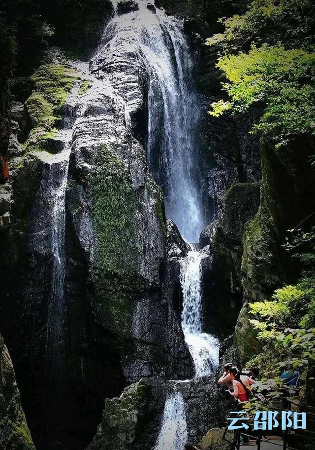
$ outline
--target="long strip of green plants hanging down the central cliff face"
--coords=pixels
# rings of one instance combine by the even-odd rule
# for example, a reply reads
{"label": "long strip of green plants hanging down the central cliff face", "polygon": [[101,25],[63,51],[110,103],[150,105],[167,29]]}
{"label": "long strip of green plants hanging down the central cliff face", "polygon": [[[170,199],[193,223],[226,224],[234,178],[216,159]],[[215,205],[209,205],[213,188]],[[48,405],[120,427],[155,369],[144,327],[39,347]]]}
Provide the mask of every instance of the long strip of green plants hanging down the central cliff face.
{"label": "long strip of green plants hanging down the central cliff face", "polygon": [[104,317],[115,331],[126,330],[131,285],[138,265],[133,215],[135,193],[124,161],[109,145],[97,149],[90,174],[96,231],[98,297]]}

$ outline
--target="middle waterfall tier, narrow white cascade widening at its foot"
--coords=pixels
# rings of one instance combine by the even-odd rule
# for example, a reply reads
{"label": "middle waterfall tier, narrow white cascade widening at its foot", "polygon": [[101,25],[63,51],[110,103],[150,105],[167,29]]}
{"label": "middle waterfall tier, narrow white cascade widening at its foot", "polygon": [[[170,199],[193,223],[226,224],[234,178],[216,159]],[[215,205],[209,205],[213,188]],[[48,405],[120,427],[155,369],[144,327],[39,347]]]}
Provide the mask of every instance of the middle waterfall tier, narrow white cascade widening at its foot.
{"label": "middle waterfall tier, narrow white cascade widening at its foot", "polygon": [[202,253],[191,251],[181,261],[182,329],[196,377],[213,373],[219,364],[218,339],[202,332],[202,258]]}

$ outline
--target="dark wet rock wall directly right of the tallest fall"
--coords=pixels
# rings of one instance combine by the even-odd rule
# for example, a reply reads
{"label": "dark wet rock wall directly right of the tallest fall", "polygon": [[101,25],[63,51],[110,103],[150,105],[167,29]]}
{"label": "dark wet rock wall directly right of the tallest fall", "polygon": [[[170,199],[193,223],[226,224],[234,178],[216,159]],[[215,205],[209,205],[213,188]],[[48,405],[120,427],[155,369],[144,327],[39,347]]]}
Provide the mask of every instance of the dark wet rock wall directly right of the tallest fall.
{"label": "dark wet rock wall directly right of the tallest fall", "polygon": [[[216,97],[205,100],[204,111]],[[205,115],[202,133],[204,150],[203,177],[208,194],[210,220],[221,215],[223,195],[239,183],[260,180],[260,155],[258,141],[249,134],[259,112],[251,110],[244,116],[214,118]],[[212,167],[209,170],[209,166]]]}

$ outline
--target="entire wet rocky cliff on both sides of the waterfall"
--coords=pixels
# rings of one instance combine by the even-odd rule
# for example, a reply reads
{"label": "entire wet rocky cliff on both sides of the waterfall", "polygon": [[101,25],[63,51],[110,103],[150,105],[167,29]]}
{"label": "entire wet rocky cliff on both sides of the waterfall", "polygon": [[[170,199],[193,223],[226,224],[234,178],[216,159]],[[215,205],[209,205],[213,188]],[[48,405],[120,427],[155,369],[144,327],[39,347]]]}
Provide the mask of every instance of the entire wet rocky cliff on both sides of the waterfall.
{"label": "entire wet rocky cliff on both sides of the waterfall", "polygon": [[[121,1],[117,13],[137,7]],[[150,7],[154,14],[159,3]],[[182,4],[180,13],[189,16],[189,8]],[[194,23],[200,26],[200,17],[191,20],[190,14],[186,28]],[[55,50],[31,80],[11,80],[10,179],[0,201],[0,331],[38,450],[86,448],[104,398],[89,450],[149,450],[174,389],[167,380],[192,376],[179,282],[189,246],[165,220],[161,188],[147,165],[148,68],[120,39],[109,27],[90,64],[70,63]],[[208,57],[209,72],[214,61]],[[209,117],[217,75],[203,92],[201,178],[211,224],[199,245],[207,255],[207,326],[217,321],[224,336],[237,321],[236,338],[221,347],[221,363],[237,363],[256,346],[248,302],[270,298],[293,276],[281,245],[285,229],[311,211],[314,181],[307,162],[314,149],[302,139],[291,148],[261,149],[260,185],[258,143],[248,135],[259,112]],[[303,155],[299,146],[307,149]],[[64,177],[64,267],[55,309],[62,314],[53,322],[54,214]],[[9,374],[3,382],[13,392],[9,420],[17,421],[29,450],[6,350],[3,358]],[[187,405],[189,442],[196,444],[209,428],[221,426],[229,405],[214,375],[176,383],[176,389]],[[11,439],[11,425],[6,421],[0,439]]]}

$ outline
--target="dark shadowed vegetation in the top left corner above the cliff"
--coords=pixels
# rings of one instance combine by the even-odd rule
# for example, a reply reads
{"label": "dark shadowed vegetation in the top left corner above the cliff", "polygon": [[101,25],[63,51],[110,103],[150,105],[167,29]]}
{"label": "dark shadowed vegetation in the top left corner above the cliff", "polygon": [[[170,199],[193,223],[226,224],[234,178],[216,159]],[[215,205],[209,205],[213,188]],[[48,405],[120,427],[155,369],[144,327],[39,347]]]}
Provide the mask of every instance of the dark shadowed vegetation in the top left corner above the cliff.
{"label": "dark shadowed vegetation in the top left corner above the cliff", "polygon": [[0,79],[32,71],[48,44],[88,51],[99,38],[106,8],[106,0],[5,0],[0,7]]}

